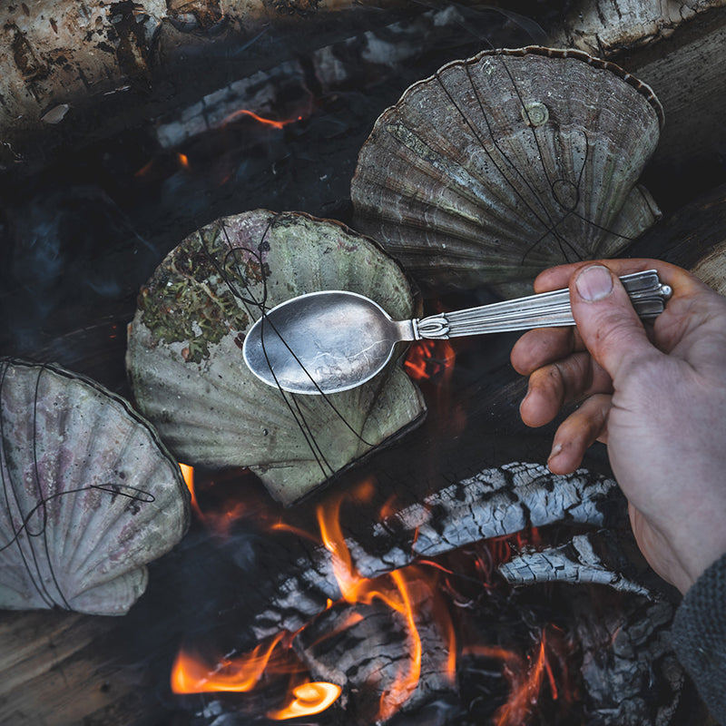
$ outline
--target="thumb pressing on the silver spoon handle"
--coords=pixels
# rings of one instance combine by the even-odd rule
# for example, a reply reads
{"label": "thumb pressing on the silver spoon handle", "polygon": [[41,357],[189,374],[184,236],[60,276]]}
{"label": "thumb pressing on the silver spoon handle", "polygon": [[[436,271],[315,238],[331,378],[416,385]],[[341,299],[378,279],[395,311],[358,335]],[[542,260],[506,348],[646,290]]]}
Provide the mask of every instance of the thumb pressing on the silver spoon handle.
{"label": "thumb pressing on the silver spoon handle", "polygon": [[636,360],[659,355],[623,283],[603,265],[575,272],[570,280],[570,301],[584,345],[613,381]]}

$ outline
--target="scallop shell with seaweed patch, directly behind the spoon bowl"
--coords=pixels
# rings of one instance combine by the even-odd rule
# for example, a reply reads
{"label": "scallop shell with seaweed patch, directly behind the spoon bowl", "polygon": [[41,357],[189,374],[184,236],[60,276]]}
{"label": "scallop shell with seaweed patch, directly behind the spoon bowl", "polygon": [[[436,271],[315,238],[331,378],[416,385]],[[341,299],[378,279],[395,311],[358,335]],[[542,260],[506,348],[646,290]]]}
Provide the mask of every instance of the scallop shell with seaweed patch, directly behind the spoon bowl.
{"label": "scallop shell with seaweed patch, directly behind the spoon bowl", "polygon": [[414,314],[397,262],[338,222],[250,211],[191,234],[142,289],[129,330],[134,397],[182,461],[249,466],[285,504],[419,420],[417,387],[392,361],[364,386],[295,396],[253,376],[245,333],[268,309],[321,289]]}

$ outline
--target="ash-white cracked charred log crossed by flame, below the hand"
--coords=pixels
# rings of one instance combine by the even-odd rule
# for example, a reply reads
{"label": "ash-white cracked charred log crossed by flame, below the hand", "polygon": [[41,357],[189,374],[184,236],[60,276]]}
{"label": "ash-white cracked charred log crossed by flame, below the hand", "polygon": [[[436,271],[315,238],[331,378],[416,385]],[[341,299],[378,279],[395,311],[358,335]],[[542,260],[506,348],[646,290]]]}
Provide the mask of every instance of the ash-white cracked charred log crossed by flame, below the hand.
{"label": "ash-white cracked charred log crossed by flame, below the hand", "polygon": [[[448,486],[378,524],[347,534],[345,544],[350,566],[373,578],[417,558],[512,535],[527,526],[563,522],[622,527],[626,521],[625,500],[613,479],[583,470],[554,476],[541,465],[512,464]],[[591,558],[587,567],[592,569],[596,561]],[[329,601],[338,601],[335,568],[329,550],[316,547],[279,572],[275,594],[254,619],[257,638],[280,630],[295,632]],[[573,580],[576,572],[573,564],[564,579]]]}

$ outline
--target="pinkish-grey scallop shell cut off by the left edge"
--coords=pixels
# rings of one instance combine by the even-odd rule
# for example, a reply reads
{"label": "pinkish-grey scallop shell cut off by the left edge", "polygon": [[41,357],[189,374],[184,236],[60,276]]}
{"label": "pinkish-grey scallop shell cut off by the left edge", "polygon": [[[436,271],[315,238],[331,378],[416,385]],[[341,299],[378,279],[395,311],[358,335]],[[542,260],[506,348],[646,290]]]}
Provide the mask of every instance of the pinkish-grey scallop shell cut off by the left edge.
{"label": "pinkish-grey scallop shell cut off by the left edge", "polygon": [[189,525],[179,466],[123,398],[0,360],[0,607],[126,613]]}

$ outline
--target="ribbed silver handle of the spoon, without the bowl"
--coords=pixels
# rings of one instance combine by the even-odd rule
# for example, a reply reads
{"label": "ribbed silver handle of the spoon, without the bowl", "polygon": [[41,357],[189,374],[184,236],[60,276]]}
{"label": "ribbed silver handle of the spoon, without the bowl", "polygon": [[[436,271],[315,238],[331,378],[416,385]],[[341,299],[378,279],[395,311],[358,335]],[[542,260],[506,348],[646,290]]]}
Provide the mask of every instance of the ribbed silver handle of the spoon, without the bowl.
{"label": "ribbed silver handle of the spoon, without the bowl", "polygon": [[[635,272],[621,279],[635,312],[642,319],[657,318],[672,295],[662,285],[656,270]],[[454,310],[414,320],[416,339],[458,338],[463,335],[558,328],[574,325],[568,288],[542,292],[526,298],[495,302],[479,308]]]}

